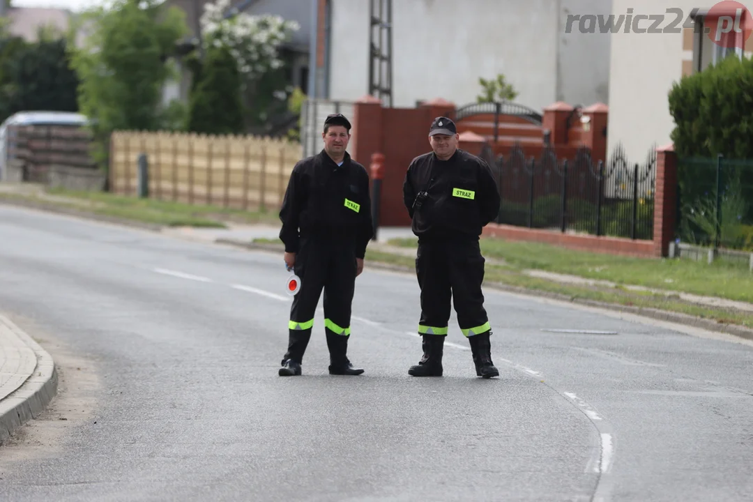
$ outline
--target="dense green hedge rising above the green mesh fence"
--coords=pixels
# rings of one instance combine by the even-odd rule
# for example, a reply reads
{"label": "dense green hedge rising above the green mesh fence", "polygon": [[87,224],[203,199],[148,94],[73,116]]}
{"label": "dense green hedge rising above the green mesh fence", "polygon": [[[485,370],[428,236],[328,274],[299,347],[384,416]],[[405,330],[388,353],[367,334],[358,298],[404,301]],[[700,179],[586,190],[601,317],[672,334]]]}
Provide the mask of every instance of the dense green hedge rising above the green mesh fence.
{"label": "dense green hedge rising above the green mesh fence", "polygon": [[753,158],[753,61],[730,56],[669,92],[679,157]]}

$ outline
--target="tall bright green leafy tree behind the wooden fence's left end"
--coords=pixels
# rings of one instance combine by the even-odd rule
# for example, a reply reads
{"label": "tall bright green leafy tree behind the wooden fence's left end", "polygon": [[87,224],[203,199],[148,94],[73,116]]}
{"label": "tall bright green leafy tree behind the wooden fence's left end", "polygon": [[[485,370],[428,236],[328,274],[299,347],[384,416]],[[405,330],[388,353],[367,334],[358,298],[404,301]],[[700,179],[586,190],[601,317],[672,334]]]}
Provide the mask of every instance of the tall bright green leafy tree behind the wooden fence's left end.
{"label": "tall bright green leafy tree behind the wooden fence's left end", "polygon": [[108,138],[116,129],[162,129],[174,110],[161,106],[167,62],[187,33],[184,11],[158,0],[114,0],[87,11],[81,26],[91,27],[84,47],[72,50],[81,79],[78,103],[92,120],[97,160],[106,160]]}

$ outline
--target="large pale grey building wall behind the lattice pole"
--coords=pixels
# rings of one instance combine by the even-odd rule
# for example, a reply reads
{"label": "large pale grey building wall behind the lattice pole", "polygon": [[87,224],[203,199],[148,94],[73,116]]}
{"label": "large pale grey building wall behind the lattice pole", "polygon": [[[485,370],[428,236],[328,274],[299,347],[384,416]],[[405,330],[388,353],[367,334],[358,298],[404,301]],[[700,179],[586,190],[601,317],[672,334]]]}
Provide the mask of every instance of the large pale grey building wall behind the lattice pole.
{"label": "large pale grey building wall behind the lattice pole", "polygon": [[[543,108],[557,99],[559,0],[395,0],[393,105],[441,97],[464,105],[478,78],[502,73],[516,101]],[[369,1],[333,0],[331,99],[368,92]],[[572,87],[572,84],[569,84]]]}

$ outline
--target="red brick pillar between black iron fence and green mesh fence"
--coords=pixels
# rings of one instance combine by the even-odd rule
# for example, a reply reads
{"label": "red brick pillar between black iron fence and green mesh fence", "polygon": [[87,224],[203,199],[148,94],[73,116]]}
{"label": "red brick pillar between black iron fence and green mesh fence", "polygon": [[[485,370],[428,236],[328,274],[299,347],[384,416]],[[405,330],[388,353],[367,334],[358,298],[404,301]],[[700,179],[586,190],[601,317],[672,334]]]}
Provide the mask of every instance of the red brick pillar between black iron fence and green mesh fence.
{"label": "red brick pillar between black iron fence and green mesh fence", "polygon": [[654,255],[666,257],[677,223],[677,154],[674,145],[657,148],[654,193]]}

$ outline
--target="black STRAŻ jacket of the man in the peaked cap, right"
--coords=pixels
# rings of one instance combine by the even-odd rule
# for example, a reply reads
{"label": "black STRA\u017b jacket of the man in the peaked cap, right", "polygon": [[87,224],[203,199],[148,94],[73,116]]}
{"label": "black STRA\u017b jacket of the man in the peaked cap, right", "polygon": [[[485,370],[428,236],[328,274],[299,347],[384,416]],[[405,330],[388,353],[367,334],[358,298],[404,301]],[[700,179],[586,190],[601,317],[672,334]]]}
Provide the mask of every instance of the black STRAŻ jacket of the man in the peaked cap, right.
{"label": "black STRA\u017b jacket of the man in the peaked cap, right", "polygon": [[[428,196],[414,209],[422,190]],[[489,165],[457,150],[446,161],[434,152],[413,159],[403,182],[403,202],[419,238],[478,239],[483,227],[497,218],[500,196]]]}

